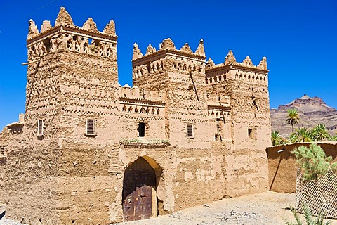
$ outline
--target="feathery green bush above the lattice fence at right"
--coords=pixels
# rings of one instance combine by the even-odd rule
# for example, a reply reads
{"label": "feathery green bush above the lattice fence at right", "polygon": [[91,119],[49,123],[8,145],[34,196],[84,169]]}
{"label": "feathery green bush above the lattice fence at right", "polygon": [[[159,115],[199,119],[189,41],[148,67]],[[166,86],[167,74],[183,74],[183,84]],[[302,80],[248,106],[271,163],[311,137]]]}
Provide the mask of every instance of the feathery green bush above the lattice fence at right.
{"label": "feathery green bush above the lattice fence at right", "polygon": [[[309,148],[300,146],[291,153],[296,156],[297,163],[303,174],[303,179],[317,180],[328,172],[332,157],[326,157],[324,150],[316,143],[310,144]],[[337,162],[331,164],[331,169],[337,169]]]}

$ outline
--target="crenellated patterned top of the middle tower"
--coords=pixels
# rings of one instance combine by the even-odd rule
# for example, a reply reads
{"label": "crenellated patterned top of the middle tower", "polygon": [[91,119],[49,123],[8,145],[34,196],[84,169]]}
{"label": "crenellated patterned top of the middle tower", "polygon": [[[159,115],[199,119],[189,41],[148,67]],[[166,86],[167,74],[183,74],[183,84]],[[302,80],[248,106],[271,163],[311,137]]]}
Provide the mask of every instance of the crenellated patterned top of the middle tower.
{"label": "crenellated patterned top of the middle tower", "polygon": [[140,51],[138,44],[133,44],[133,84],[137,86],[154,87],[161,82],[166,83],[168,80],[173,80],[173,76],[169,75],[172,72],[174,76],[178,76],[175,80],[181,80],[181,77],[187,76],[187,82],[190,82],[188,78],[190,72],[194,75],[199,74],[192,79],[201,79],[198,82],[204,84],[202,71],[205,65],[206,55],[202,39],[196,51],[192,51],[188,43],[177,49],[170,38],[164,39],[159,44],[159,50],[149,44],[145,54]]}

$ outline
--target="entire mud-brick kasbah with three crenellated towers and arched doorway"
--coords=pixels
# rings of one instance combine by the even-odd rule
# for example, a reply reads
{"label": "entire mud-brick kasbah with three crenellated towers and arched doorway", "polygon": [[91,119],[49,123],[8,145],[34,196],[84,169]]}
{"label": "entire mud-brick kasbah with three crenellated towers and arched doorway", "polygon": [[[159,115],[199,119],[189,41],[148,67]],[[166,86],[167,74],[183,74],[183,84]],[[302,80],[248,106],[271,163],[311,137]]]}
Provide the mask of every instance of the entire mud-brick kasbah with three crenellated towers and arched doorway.
{"label": "entire mud-brick kasbah with three crenellated towers and arched doorway", "polygon": [[267,191],[267,60],[133,46],[119,85],[114,21],[29,21],[25,115],[1,132],[0,203],[27,224],[111,224]]}

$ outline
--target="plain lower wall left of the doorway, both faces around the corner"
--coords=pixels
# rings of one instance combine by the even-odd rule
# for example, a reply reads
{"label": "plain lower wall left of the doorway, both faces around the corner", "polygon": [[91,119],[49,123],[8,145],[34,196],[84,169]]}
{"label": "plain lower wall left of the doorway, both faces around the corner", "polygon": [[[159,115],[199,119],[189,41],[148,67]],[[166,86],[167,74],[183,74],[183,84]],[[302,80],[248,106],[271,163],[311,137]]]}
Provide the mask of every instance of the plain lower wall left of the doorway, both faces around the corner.
{"label": "plain lower wall left of the doorway, both faces around the corner", "polygon": [[40,219],[42,224],[110,222],[109,207],[117,195],[117,177],[109,173],[113,154],[106,151],[111,146],[20,136],[7,149],[7,218],[28,224]]}

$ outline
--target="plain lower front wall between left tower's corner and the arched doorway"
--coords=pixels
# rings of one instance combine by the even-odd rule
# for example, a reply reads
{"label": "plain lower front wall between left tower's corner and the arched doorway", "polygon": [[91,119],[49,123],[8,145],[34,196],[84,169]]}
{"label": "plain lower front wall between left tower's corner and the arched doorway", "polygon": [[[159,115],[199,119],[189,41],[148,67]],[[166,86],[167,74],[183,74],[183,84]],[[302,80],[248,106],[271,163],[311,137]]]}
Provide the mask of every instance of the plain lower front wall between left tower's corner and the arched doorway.
{"label": "plain lower front wall between left tower's corner and the arched doorway", "polygon": [[111,174],[118,163],[114,145],[68,141],[60,152],[58,224],[109,224],[116,213],[117,195],[121,195],[119,176]]}

